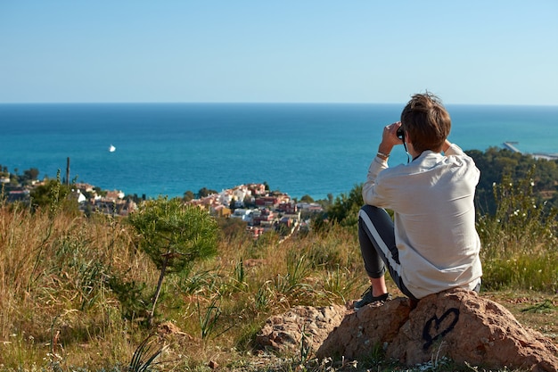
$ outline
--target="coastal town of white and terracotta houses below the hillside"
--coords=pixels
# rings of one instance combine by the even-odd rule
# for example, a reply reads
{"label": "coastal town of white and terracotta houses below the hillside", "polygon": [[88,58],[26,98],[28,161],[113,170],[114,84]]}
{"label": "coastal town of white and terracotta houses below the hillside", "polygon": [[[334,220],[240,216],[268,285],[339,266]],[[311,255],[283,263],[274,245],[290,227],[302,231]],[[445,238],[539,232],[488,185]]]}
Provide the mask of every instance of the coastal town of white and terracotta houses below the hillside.
{"label": "coastal town of white and terracotta houses below the hillside", "polygon": [[[34,189],[45,186],[49,180],[32,180],[27,185],[15,184],[5,172],[0,177],[4,200],[7,203],[32,203]],[[145,198],[130,197],[119,190],[104,191],[87,183],[73,183],[70,186],[70,199],[78,203],[79,211],[85,215],[102,213],[112,216],[127,216],[143,203]],[[221,192],[210,193],[185,204],[196,205],[207,210],[216,218],[240,219],[246,223],[246,230],[254,239],[263,233],[274,230],[284,235],[296,229],[305,228],[310,216],[324,211],[319,203],[297,202],[289,194],[270,192],[265,183],[234,186]]]}

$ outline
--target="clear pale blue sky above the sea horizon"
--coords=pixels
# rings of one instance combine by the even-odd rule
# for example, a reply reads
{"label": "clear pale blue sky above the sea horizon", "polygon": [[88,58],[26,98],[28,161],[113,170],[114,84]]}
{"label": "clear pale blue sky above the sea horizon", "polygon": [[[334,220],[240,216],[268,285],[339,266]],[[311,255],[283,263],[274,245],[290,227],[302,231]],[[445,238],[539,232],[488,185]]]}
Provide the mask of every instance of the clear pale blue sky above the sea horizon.
{"label": "clear pale blue sky above the sea horizon", "polygon": [[558,1],[0,0],[0,103],[558,104]]}

